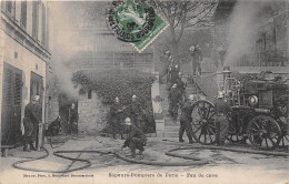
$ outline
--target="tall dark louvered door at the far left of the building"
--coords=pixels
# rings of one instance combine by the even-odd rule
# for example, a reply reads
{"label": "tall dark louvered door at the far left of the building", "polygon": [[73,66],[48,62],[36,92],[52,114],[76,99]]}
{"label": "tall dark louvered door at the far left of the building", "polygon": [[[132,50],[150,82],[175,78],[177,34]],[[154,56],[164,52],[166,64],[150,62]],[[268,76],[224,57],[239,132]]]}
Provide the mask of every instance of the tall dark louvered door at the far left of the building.
{"label": "tall dark louvered door at the far left of the building", "polygon": [[22,71],[4,63],[1,144],[21,144]]}

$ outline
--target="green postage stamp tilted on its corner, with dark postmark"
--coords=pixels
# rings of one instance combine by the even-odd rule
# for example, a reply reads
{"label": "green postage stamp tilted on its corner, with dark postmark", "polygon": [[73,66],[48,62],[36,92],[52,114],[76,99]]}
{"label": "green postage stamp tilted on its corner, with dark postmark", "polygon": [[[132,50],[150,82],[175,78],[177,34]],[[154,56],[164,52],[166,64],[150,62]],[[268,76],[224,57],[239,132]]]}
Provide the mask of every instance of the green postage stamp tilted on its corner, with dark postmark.
{"label": "green postage stamp tilted on its corner, with dark postmark", "polygon": [[142,52],[166,28],[166,22],[144,0],[112,2],[107,25],[121,41]]}

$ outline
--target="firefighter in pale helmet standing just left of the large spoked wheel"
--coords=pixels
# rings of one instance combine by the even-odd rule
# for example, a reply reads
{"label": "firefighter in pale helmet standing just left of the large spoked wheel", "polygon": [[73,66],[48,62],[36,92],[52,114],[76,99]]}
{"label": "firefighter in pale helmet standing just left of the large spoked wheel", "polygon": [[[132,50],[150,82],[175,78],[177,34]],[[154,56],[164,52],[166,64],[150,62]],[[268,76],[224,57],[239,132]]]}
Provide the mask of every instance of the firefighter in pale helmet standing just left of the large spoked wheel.
{"label": "firefighter in pale helmet standing just left of the large spoked wheel", "polygon": [[192,104],[195,102],[195,95],[190,94],[188,96],[188,101],[183,103],[181,109],[180,116],[180,130],[179,130],[179,142],[185,142],[182,140],[182,135],[186,131],[187,136],[189,139],[189,143],[192,143],[192,127],[191,127],[191,113],[192,113]]}

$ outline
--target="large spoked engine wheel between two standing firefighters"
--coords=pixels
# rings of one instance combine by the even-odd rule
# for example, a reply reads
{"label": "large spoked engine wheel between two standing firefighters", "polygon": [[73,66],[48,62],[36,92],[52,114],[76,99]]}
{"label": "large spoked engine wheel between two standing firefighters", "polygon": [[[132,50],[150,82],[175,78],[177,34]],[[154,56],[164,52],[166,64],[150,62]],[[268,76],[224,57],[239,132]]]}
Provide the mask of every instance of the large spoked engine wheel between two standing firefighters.
{"label": "large spoked engine wheel between two standing firefighters", "polygon": [[201,144],[216,142],[215,108],[206,100],[192,104],[192,136]]}

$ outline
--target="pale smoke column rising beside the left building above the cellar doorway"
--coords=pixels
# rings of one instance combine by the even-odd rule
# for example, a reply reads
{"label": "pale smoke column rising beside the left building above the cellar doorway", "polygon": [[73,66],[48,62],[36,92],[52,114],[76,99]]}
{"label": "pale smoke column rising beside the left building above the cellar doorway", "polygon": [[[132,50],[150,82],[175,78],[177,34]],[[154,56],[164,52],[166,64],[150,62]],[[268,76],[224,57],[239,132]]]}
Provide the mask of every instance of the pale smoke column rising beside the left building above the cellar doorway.
{"label": "pale smoke column rising beside the left building above the cellar doorway", "polygon": [[71,14],[68,11],[68,3],[64,1],[50,2],[50,20],[52,25],[52,67],[60,91],[69,98],[77,100],[79,89],[72,83],[72,71],[67,63],[71,58],[81,51],[79,33],[73,31]]}

